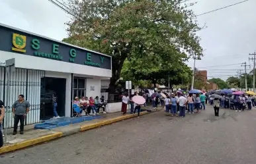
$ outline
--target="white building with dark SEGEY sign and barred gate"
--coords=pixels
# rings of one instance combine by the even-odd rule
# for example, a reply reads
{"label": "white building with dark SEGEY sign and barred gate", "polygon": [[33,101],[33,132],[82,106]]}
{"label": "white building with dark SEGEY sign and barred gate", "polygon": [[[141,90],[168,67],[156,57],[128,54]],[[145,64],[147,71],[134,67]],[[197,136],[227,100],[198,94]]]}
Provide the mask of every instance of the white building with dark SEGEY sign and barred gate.
{"label": "white building with dark SEGEY sign and barred gate", "polygon": [[[15,58],[9,104],[19,94],[30,102],[26,124],[40,123],[53,116],[52,107],[47,106],[52,94],[58,97],[59,115],[71,117],[73,98],[101,96],[101,80],[112,76],[112,59],[108,55],[3,24],[0,36],[0,99],[6,104],[7,75],[3,63]],[[12,127],[11,115],[9,120]]]}

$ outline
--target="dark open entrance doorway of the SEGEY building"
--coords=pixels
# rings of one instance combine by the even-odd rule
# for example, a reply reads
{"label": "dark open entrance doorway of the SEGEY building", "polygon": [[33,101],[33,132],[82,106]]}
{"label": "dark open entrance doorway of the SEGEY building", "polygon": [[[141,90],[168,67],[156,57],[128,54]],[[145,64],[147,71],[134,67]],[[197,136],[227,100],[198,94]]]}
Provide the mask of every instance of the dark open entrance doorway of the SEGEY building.
{"label": "dark open entrance doorway of the SEGEY building", "polygon": [[65,78],[41,78],[41,104],[44,110],[40,113],[40,119],[46,120],[54,117],[53,96],[57,96],[57,113],[65,116]]}

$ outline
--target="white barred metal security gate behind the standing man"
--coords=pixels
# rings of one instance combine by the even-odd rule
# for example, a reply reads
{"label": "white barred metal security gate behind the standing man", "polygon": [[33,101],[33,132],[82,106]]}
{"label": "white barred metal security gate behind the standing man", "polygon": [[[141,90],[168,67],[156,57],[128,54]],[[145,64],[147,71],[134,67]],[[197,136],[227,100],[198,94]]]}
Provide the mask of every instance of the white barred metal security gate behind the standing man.
{"label": "white barred metal security gate behind the standing man", "polygon": [[[0,67],[0,99],[6,104],[7,100],[7,75],[5,67]],[[13,104],[20,94],[30,103],[30,111],[26,116],[25,125],[40,123],[40,111],[44,111],[44,106],[40,105],[41,78],[45,76],[44,70],[28,70],[15,68],[15,72],[10,76],[9,107],[5,107],[5,118],[9,117],[9,127],[14,125],[11,104]],[[6,119],[7,120],[7,119]],[[5,128],[6,121],[3,121]]]}

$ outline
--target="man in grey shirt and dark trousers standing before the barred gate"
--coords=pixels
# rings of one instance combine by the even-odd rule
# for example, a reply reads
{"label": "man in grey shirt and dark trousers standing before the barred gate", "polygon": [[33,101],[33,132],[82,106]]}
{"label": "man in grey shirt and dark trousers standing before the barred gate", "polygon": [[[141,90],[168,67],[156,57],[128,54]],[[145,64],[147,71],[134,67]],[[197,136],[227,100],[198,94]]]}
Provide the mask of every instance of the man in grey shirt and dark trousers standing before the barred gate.
{"label": "man in grey shirt and dark trousers standing before the barred gate", "polygon": [[13,103],[14,128],[13,135],[17,134],[18,124],[20,126],[20,134],[24,134],[24,121],[28,114],[30,103],[24,99],[24,95],[19,95],[19,99]]}

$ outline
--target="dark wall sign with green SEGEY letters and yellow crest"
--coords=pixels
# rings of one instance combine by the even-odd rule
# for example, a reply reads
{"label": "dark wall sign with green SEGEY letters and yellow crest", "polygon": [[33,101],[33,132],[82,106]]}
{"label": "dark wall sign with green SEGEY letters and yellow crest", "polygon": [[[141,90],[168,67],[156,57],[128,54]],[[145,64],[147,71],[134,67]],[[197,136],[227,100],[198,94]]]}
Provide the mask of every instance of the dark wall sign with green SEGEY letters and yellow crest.
{"label": "dark wall sign with green SEGEY letters and yellow crest", "polygon": [[111,57],[0,25],[0,51],[111,69]]}

